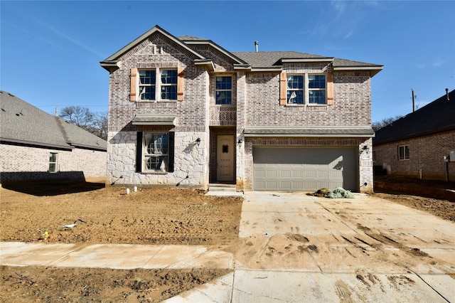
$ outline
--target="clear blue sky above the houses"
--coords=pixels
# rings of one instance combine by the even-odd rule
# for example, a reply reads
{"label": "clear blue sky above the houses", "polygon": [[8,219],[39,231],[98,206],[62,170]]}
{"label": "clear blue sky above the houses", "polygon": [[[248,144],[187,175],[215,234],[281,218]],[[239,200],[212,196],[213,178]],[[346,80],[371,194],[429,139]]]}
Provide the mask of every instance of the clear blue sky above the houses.
{"label": "clear blue sky above the houses", "polygon": [[455,89],[455,1],[0,1],[0,87],[53,113],[107,112],[100,61],[158,24],[226,50],[295,50],[384,65],[373,122]]}

